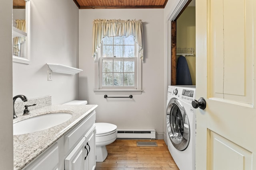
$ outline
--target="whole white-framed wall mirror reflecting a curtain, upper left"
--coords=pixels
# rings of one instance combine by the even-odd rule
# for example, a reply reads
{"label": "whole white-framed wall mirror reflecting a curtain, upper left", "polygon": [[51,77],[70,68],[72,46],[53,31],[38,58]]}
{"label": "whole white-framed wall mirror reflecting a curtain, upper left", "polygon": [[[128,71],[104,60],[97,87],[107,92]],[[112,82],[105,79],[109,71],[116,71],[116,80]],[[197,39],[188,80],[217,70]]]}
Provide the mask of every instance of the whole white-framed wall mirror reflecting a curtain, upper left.
{"label": "whole white-framed wall mirror reflecting a curtain, upper left", "polygon": [[12,61],[30,63],[30,0],[13,0]]}

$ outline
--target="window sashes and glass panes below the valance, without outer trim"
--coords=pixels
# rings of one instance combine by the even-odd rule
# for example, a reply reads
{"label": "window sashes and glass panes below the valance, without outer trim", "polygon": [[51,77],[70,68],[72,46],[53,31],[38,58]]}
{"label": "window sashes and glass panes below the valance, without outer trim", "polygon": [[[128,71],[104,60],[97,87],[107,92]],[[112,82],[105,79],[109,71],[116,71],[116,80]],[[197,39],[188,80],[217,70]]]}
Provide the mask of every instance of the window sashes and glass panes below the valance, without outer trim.
{"label": "window sashes and glass panes below the valance, without outer trim", "polygon": [[100,53],[100,89],[137,88],[135,50],[136,44],[132,35],[103,38]]}

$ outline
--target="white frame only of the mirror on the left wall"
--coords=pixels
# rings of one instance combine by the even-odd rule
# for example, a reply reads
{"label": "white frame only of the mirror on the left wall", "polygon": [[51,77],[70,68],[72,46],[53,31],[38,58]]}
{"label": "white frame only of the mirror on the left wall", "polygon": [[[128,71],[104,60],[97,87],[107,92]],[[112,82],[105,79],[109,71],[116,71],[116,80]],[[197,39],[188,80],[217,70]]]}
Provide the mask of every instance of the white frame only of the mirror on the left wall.
{"label": "white frame only of the mirror on the left wall", "polygon": [[24,63],[24,64],[30,64],[30,41],[31,41],[31,2],[30,0],[25,0],[26,1],[26,47],[25,47],[25,55],[26,58],[24,57],[17,57],[17,56],[12,56],[12,61],[17,62],[17,63]]}

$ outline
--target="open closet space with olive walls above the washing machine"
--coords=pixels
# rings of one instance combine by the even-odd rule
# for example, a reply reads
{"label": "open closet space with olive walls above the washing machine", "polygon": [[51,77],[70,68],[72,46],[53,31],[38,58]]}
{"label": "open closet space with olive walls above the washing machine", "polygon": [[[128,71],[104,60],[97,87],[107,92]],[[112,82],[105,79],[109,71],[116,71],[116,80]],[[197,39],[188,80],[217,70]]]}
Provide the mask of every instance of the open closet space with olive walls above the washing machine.
{"label": "open closet space with olive walls above the washing machine", "polygon": [[[196,85],[196,20],[195,0],[188,0],[180,13],[171,21],[171,57],[170,74],[171,85]],[[169,46],[169,47],[170,47]],[[187,63],[185,76],[182,72],[177,75],[177,69],[186,70],[180,64],[177,68],[178,59],[183,56]],[[181,61],[181,59],[180,59]],[[181,67],[182,66],[182,67]],[[188,75],[188,76],[186,76]],[[186,77],[186,78],[185,78]],[[178,78],[178,79],[177,79]],[[190,79],[189,79],[190,78]],[[189,79],[189,80],[187,80]],[[177,81],[178,80],[178,81]]]}

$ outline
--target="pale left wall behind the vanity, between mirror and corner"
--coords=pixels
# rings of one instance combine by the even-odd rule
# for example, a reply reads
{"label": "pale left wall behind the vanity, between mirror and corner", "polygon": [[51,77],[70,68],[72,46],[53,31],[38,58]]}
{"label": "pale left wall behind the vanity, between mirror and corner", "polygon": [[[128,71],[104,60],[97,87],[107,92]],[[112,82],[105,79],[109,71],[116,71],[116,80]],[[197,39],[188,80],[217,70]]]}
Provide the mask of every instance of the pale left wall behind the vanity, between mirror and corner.
{"label": "pale left wall behind the vanity, between mirror and corner", "polygon": [[78,99],[78,74],[53,73],[46,63],[78,67],[78,7],[72,0],[31,1],[31,63],[13,63],[13,96],[52,96],[52,104]]}

